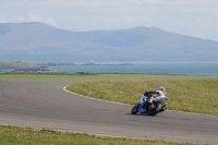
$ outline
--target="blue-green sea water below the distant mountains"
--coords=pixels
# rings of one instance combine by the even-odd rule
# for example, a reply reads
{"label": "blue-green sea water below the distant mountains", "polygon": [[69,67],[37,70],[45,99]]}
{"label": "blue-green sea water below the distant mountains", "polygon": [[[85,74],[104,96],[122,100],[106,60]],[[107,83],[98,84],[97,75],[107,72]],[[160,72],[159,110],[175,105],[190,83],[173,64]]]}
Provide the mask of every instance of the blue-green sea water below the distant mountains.
{"label": "blue-green sea water below the distant mountains", "polygon": [[140,73],[218,76],[218,63],[136,63],[130,65],[51,67],[53,72]]}

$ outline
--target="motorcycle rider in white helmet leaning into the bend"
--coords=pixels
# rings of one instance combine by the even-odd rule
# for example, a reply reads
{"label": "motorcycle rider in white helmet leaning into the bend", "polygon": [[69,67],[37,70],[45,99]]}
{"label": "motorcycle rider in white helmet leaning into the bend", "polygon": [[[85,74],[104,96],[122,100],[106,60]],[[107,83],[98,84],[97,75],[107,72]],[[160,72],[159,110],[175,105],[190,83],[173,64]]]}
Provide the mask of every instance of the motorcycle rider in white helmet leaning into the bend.
{"label": "motorcycle rider in white helmet leaning into the bend", "polygon": [[154,95],[154,97],[167,97],[167,92],[165,92],[165,87],[160,86],[157,90],[145,92],[141,98],[141,106],[145,106],[145,101],[147,100],[148,95]]}

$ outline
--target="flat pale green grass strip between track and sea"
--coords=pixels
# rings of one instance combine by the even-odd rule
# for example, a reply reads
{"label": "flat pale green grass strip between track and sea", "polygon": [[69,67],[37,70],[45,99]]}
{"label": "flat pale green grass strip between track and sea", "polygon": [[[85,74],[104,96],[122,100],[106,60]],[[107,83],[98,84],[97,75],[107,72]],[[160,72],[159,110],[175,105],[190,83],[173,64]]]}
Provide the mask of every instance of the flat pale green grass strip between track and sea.
{"label": "flat pale green grass strip between track and sea", "polygon": [[86,73],[0,73],[0,82],[135,82],[135,81],[218,81],[214,76],[86,74]]}

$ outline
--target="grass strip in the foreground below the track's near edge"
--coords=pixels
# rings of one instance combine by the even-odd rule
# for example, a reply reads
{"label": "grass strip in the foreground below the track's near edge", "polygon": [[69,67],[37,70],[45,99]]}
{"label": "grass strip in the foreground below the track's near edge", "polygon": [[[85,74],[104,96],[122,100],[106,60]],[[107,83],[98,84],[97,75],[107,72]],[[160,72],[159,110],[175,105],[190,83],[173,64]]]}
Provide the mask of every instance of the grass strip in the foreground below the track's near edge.
{"label": "grass strip in the foreground below the track's near edge", "polygon": [[192,145],[164,141],[142,141],[104,137],[87,134],[63,133],[51,130],[34,130],[0,125],[1,145]]}

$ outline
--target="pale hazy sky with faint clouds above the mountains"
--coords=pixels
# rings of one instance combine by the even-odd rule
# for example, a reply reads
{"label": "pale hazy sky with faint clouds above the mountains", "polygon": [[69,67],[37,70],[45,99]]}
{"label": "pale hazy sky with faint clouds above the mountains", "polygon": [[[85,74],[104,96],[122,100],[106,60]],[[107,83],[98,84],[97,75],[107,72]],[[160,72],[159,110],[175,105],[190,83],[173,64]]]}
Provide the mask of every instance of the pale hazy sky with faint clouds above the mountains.
{"label": "pale hazy sky with faint clouds above the mountains", "polygon": [[0,0],[0,23],[70,31],[159,27],[218,41],[218,0]]}

